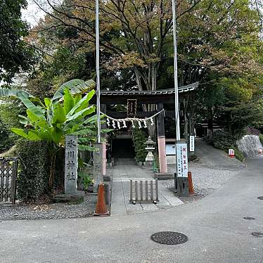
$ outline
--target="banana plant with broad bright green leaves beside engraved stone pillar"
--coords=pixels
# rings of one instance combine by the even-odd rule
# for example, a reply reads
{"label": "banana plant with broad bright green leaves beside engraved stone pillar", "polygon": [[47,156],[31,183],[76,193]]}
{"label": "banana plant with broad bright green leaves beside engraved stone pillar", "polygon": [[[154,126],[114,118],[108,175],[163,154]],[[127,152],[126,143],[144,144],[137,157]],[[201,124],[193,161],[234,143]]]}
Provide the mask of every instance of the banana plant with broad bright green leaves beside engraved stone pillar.
{"label": "banana plant with broad bright green leaves beside engraved stone pillar", "polygon": [[[56,152],[65,143],[65,136],[79,136],[79,150],[94,150],[89,143],[96,141],[96,108],[89,105],[94,96],[94,82],[73,79],[66,82],[53,96],[41,101],[25,91],[0,89],[0,96],[16,96],[27,108],[26,116],[19,115],[25,129],[11,130],[30,141],[46,141],[51,160],[49,188],[53,188]],[[84,92],[89,91],[82,97]],[[92,115],[92,116],[89,116]],[[103,117],[103,116],[101,116]],[[106,132],[106,130],[104,131]]]}

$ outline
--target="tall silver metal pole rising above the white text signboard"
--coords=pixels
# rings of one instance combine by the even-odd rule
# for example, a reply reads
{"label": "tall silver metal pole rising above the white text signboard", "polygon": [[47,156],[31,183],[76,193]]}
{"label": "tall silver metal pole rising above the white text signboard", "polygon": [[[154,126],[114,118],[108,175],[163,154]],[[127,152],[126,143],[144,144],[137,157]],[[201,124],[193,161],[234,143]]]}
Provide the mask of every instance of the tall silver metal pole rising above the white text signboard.
{"label": "tall silver metal pole rising above the white text signboard", "polygon": [[174,91],[175,91],[175,125],[177,141],[180,141],[179,96],[178,96],[178,70],[177,70],[177,15],[175,0],[172,0],[172,20],[174,30]]}

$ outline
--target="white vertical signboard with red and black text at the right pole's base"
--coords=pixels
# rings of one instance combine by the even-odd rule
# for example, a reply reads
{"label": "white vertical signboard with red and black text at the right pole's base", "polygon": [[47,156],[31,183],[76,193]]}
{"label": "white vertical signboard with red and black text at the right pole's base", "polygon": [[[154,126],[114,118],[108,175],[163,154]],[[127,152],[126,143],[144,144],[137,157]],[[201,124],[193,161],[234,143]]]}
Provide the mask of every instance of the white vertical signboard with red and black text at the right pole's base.
{"label": "white vertical signboard with red and black text at the right pole's base", "polygon": [[186,143],[177,143],[177,177],[188,177]]}

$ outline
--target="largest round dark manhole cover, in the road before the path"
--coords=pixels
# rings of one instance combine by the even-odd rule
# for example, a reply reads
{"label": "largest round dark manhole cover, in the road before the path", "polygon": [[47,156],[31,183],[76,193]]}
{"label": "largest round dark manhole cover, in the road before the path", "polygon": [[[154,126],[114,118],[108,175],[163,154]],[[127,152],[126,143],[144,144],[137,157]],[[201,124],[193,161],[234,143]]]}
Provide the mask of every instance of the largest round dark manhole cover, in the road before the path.
{"label": "largest round dark manhole cover, in the road before the path", "polygon": [[150,236],[150,239],[163,245],[178,245],[185,243],[188,240],[188,237],[183,233],[165,231],[154,233]]}

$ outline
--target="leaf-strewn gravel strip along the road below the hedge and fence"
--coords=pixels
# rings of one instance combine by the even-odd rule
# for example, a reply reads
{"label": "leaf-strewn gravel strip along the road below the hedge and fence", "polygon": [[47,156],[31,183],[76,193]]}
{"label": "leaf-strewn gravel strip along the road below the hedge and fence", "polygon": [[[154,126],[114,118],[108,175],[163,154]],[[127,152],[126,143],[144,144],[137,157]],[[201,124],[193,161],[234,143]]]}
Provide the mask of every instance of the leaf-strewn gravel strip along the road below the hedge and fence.
{"label": "leaf-strewn gravel strip along the road below the hedge and fence", "polygon": [[90,217],[96,206],[96,195],[86,194],[84,203],[68,205],[54,203],[50,205],[0,205],[0,220],[26,219],[63,219]]}

